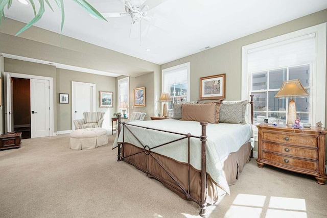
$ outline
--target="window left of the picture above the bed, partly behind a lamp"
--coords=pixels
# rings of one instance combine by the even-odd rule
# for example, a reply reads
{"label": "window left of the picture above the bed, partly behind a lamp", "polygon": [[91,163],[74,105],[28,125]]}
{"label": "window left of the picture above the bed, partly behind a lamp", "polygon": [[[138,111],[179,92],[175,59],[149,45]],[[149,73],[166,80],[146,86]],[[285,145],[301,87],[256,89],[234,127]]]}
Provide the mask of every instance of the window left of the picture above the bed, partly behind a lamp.
{"label": "window left of the picture above the bed, partly behind a lamp", "polygon": [[168,92],[172,98],[167,102],[170,117],[174,103],[190,101],[190,62],[162,70],[162,92]]}

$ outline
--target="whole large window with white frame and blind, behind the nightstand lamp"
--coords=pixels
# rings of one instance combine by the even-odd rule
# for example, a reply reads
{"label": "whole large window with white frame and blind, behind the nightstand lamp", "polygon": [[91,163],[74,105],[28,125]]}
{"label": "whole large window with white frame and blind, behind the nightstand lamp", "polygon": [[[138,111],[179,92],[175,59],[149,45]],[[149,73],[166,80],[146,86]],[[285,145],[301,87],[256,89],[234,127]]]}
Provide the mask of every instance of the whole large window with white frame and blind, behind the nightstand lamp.
{"label": "whole large window with white frame and blind, behind the nightstand lamp", "polygon": [[269,117],[285,124],[290,99],[274,95],[292,79],[310,94],[294,98],[301,122],[325,120],[325,74],[326,23],[242,47],[242,99],[254,94],[256,123]]}

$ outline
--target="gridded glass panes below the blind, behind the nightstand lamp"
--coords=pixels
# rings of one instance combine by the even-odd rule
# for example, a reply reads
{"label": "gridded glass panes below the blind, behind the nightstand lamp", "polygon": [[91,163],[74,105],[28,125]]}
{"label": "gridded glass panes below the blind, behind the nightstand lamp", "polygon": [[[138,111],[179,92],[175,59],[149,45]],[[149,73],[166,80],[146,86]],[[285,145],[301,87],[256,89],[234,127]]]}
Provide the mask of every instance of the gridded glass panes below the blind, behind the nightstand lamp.
{"label": "gridded glass panes below the blind, behind the nightstand lamp", "polygon": [[[300,79],[303,87],[310,94],[310,64],[286,67],[281,69],[253,72],[251,74],[251,89],[253,94],[254,124],[263,123],[265,118],[271,118],[279,124],[286,124],[288,103],[290,99],[275,98],[275,94],[283,81]],[[310,123],[310,96],[294,97],[297,117],[302,123]]]}

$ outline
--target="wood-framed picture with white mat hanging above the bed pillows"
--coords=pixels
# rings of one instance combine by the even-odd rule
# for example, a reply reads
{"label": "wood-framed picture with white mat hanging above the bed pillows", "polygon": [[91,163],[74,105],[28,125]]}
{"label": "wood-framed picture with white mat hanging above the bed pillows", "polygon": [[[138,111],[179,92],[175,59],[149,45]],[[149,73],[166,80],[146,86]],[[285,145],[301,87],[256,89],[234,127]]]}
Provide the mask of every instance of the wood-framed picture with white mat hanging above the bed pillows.
{"label": "wood-framed picture with white mat hanging above the bed pillows", "polygon": [[226,74],[200,78],[200,99],[225,99]]}

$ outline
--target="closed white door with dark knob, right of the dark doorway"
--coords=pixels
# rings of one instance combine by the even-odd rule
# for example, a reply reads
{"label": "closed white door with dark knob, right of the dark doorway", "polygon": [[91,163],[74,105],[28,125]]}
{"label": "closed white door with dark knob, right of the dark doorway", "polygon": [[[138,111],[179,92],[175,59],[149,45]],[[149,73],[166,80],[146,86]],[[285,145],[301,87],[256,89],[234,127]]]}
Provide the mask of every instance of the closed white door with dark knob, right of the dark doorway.
{"label": "closed white door with dark knob, right of the dark doorway", "polygon": [[31,138],[50,136],[48,80],[31,79]]}

